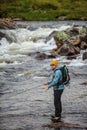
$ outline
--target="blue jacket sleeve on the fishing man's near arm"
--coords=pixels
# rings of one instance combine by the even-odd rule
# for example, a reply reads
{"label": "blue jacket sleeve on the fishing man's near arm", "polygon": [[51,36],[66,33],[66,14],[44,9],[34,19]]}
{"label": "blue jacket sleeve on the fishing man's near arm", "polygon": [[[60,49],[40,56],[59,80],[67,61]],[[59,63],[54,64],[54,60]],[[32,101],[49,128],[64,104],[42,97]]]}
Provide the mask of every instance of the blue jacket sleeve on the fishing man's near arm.
{"label": "blue jacket sleeve on the fishing man's near arm", "polygon": [[58,81],[60,80],[60,77],[61,77],[61,72],[60,72],[60,70],[57,70],[55,72],[54,78],[52,79],[52,81],[48,85],[48,89],[55,86],[58,83]]}

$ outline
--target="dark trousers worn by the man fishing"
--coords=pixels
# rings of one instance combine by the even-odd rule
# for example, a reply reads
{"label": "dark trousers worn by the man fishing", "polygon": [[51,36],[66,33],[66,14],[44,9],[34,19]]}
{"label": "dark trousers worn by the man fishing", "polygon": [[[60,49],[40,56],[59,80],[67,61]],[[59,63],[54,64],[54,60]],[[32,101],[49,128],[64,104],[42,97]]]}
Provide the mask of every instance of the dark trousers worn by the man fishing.
{"label": "dark trousers worn by the man fishing", "polygon": [[61,116],[62,104],[61,104],[61,95],[63,90],[54,90],[54,107],[55,107],[55,116]]}

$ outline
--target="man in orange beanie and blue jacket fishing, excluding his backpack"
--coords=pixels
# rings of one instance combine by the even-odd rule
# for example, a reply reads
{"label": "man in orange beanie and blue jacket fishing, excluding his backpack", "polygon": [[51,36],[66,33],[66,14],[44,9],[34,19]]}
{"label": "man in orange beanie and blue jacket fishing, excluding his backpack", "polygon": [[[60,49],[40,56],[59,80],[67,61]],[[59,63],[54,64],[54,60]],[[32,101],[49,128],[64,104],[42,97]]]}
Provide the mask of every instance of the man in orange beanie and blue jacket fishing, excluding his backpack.
{"label": "man in orange beanie and blue jacket fishing, excluding his backpack", "polygon": [[53,87],[55,115],[52,116],[52,121],[57,122],[61,119],[61,112],[62,112],[61,95],[64,90],[64,85],[58,84],[62,80],[62,73],[58,61],[52,60],[50,65],[52,70],[54,71],[53,78],[50,82],[44,83],[44,85],[47,85],[46,91],[49,88]]}

